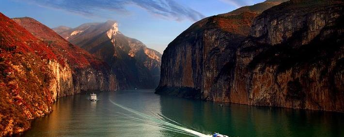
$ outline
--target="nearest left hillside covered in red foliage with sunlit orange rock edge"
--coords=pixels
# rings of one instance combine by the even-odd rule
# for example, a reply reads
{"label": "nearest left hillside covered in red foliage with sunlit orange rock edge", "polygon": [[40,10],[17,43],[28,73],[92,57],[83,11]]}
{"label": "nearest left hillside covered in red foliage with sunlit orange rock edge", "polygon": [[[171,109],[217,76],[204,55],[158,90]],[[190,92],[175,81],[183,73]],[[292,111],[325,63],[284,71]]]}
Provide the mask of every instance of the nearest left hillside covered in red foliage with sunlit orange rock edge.
{"label": "nearest left hillside covered in red foliage with sunlit orange rock edge", "polygon": [[[0,136],[30,127],[27,119],[44,116],[60,84],[72,88],[66,63],[47,45],[0,13]],[[64,79],[66,78],[66,79]]]}

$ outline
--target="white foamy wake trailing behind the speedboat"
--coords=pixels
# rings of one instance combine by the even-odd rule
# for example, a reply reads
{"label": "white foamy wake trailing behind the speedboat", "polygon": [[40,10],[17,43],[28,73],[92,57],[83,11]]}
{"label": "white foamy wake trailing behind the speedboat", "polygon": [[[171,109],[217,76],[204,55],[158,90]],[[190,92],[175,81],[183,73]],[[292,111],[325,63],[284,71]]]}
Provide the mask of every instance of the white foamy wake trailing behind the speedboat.
{"label": "white foamy wake trailing behind the speedboat", "polygon": [[136,110],[132,110],[132,109],[126,108],[126,107],[124,107],[124,106],[122,106],[120,104],[117,104],[117,103],[113,102],[110,99],[109,99],[109,101],[113,105],[116,105],[117,107],[120,107],[120,108],[122,108],[124,110],[127,110],[127,111],[135,114],[136,116],[139,116],[139,117],[133,117],[131,115],[127,115],[127,114],[124,114],[124,113],[116,112],[117,114],[122,115],[122,116],[124,116],[126,118],[129,118],[131,120],[138,121],[138,122],[143,122],[143,123],[149,123],[151,125],[156,125],[156,126],[162,127],[162,128],[164,128],[166,130],[169,130],[169,131],[174,131],[174,132],[177,132],[177,133],[181,133],[181,134],[185,134],[185,135],[189,135],[189,136],[193,136],[193,137],[212,137],[211,135],[206,135],[206,134],[197,132],[195,130],[182,127],[182,124],[177,123],[177,122],[175,122],[175,121],[173,121],[173,120],[171,120],[171,119],[169,119],[169,118],[167,118],[165,116],[154,114],[154,113],[152,113],[152,114],[154,114],[155,116],[148,115],[148,114],[136,111]]}

